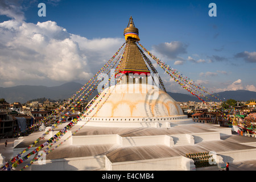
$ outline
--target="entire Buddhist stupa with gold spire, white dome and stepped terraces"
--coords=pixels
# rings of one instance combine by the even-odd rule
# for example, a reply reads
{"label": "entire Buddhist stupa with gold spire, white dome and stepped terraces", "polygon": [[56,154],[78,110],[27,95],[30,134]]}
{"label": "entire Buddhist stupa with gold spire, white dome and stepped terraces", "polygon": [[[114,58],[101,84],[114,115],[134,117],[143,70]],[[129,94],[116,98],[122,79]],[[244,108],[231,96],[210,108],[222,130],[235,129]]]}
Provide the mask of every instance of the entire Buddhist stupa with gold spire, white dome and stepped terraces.
{"label": "entire Buddhist stupa with gold spire, white dome and stepped terraces", "polygon": [[[193,122],[162,84],[155,85],[160,77],[153,76],[154,69],[150,72],[137,46],[139,31],[132,18],[124,36],[127,46],[114,72],[115,84],[88,104],[94,110],[87,111],[58,141],[61,145],[26,170],[190,171],[199,169],[191,154],[205,153],[213,154],[210,167],[218,170],[224,162],[256,159],[255,138],[232,135],[228,127]],[[52,130],[27,153],[67,124]],[[42,133],[15,140],[13,156]]]}

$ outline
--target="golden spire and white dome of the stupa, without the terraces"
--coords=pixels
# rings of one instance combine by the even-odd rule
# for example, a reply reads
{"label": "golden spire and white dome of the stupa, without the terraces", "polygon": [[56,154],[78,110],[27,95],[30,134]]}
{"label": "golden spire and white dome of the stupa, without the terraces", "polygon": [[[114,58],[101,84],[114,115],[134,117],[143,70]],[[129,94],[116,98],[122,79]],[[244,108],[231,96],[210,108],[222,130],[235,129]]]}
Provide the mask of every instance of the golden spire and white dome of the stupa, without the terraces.
{"label": "golden spire and white dome of the stupa, without the terraces", "polygon": [[108,91],[102,92],[94,102],[96,105],[101,100],[101,104],[97,106],[100,109],[94,109],[87,115],[85,121],[90,121],[87,125],[171,127],[172,121],[191,122],[191,119],[183,114],[179,104],[155,85],[153,73],[150,74],[136,44],[140,39],[133,18],[130,18],[123,35],[127,48],[121,64],[115,70],[115,75],[121,73],[119,82],[106,88]]}

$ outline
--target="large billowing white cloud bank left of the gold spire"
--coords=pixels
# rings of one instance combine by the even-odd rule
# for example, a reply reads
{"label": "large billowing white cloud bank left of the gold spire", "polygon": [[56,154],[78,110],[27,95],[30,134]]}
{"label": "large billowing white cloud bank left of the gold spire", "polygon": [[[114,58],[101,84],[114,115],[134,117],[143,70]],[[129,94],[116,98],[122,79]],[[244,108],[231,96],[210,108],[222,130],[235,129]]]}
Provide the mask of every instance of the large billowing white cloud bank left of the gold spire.
{"label": "large billowing white cloud bank left of the gold spire", "polygon": [[100,69],[122,39],[93,39],[69,34],[56,22],[0,23],[0,85],[20,81],[88,80]]}

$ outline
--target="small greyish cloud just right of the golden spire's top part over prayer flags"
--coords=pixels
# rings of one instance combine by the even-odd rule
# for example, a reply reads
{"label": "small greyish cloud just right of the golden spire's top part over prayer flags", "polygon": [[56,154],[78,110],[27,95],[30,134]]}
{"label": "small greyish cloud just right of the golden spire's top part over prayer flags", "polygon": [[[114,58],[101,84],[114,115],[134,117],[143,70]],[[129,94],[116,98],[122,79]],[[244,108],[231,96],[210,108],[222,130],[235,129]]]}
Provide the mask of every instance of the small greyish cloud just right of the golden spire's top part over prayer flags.
{"label": "small greyish cloud just right of the golden spire's top part over prayer flags", "polygon": [[179,41],[160,43],[156,46],[152,46],[153,52],[157,52],[161,56],[171,60],[176,59],[180,54],[187,53],[187,47],[187,45]]}

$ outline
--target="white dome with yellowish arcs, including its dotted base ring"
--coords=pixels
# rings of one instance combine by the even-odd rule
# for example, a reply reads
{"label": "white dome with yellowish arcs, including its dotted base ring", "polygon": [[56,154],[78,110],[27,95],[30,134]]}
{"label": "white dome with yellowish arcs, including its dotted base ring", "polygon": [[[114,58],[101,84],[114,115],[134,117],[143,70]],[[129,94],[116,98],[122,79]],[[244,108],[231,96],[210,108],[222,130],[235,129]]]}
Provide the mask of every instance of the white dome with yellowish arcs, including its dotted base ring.
{"label": "white dome with yellowish arcs, including its dotted base ring", "polygon": [[159,122],[164,122],[164,126],[168,127],[171,121],[187,119],[171,96],[150,84],[110,86],[103,90],[90,108],[93,110],[89,109],[83,120],[93,126],[97,123],[97,126],[118,127],[118,123],[122,123],[122,127],[131,127],[135,122],[139,125],[144,122],[146,126],[158,127]]}

